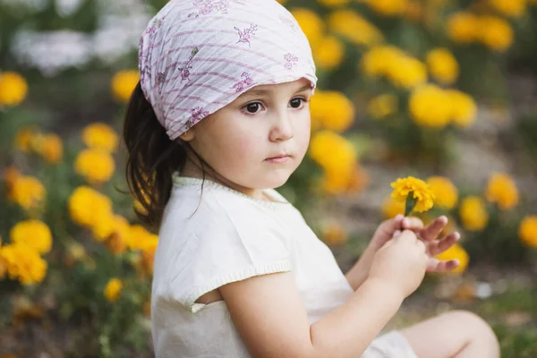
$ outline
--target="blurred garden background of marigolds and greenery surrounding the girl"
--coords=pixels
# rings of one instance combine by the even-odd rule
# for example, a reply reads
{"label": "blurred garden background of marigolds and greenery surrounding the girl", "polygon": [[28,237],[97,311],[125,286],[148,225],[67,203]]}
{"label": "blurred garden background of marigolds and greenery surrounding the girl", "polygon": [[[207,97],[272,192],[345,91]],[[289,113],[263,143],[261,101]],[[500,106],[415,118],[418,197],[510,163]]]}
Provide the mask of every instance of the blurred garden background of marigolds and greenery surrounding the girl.
{"label": "blurred garden background of marigolds and greenery surrounding the girl", "polygon": [[[208,0],[209,1],[209,0]],[[214,0],[216,1],[216,0]],[[224,1],[224,0],[220,0]],[[389,327],[461,308],[537,356],[537,1],[287,0],[319,90],[279,189],[342,269],[430,183],[460,244]],[[164,0],[0,0],[0,357],[149,357],[156,233],[125,194],[122,115]]]}

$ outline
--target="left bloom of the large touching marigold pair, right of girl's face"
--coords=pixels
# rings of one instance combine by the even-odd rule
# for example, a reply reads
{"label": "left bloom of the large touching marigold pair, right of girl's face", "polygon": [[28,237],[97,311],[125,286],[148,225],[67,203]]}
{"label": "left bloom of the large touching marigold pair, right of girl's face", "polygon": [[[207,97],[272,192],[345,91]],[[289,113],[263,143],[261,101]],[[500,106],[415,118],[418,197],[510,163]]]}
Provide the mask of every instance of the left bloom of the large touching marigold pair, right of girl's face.
{"label": "left bloom of the large touching marigold pair, right of girl's face", "polygon": [[413,90],[409,110],[416,124],[443,128],[451,119],[452,107],[445,90],[434,85],[424,85]]}

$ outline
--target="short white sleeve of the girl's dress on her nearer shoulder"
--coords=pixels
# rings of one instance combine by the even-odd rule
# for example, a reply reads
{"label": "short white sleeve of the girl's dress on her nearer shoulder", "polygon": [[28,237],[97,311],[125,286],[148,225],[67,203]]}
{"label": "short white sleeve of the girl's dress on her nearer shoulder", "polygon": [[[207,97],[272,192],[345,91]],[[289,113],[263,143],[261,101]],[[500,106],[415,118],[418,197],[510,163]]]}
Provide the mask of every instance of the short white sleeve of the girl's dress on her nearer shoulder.
{"label": "short white sleeve of the girl's dress on her nearer shoulder", "polygon": [[223,201],[200,207],[174,260],[171,294],[192,312],[203,309],[196,300],[217,287],[292,269],[288,234],[277,221],[248,200]]}

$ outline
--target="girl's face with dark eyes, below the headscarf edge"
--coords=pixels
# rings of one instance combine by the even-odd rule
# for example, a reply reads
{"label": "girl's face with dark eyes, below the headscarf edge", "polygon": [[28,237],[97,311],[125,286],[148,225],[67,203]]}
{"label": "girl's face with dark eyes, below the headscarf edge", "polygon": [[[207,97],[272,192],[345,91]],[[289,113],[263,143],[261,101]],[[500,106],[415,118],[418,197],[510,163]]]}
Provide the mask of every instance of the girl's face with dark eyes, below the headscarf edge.
{"label": "girl's face with dark eyes, below the headscarf edge", "polygon": [[257,196],[256,190],[286,183],[302,162],[310,141],[310,98],[305,79],[258,86],[181,138],[221,176],[216,179]]}

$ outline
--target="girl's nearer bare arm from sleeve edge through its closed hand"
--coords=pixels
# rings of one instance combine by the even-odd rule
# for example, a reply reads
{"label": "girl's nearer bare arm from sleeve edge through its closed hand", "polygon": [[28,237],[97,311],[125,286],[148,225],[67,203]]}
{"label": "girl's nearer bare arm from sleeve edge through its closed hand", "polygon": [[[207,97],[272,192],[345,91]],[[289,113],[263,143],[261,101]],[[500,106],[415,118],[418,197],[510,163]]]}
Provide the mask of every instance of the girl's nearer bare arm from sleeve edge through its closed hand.
{"label": "girl's nearer bare arm from sleeve edge through its closed hand", "polygon": [[292,272],[219,288],[254,357],[355,358],[422,283],[429,257],[409,230],[375,253],[369,277],[351,298],[310,325]]}

